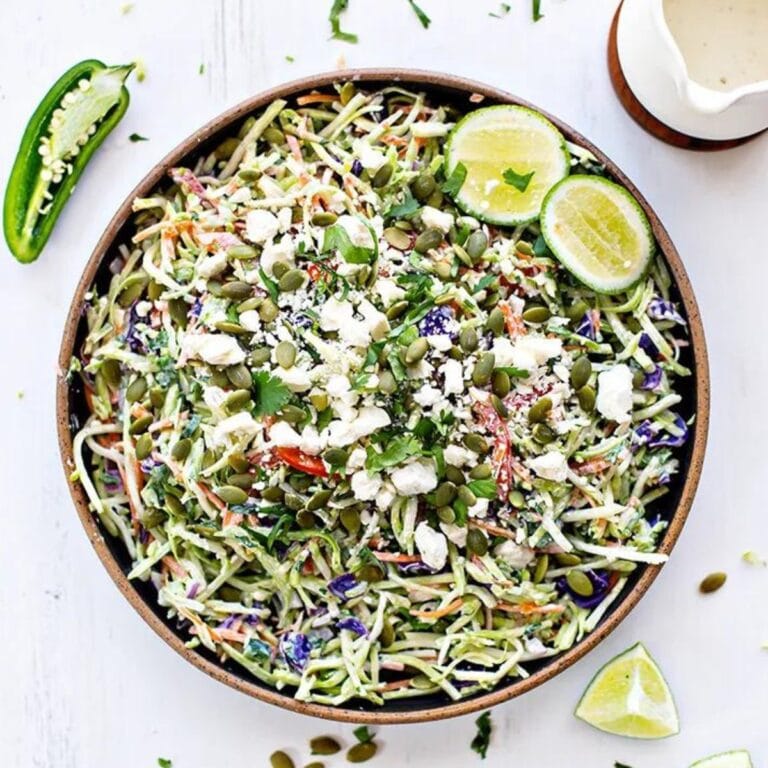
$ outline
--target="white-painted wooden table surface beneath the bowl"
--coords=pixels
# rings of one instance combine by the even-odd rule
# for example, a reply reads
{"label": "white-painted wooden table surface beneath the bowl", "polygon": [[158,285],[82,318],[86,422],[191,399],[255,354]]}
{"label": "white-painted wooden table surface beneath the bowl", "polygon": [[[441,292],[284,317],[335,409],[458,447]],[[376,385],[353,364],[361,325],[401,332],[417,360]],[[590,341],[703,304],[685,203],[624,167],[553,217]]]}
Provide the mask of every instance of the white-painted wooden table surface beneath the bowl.
{"label": "white-painted wooden table surface beneath the bowl", "polygon": [[[768,137],[713,155],[663,146],[622,112],[605,39],[616,0],[351,0],[358,45],[328,41],[330,0],[5,0],[0,24],[0,173],[48,86],[80,59],[144,61],[132,105],[96,155],[45,253],[16,264],[0,246],[0,765],[3,768],[258,768],[279,747],[348,727],[260,704],[215,683],[167,648],[112,585],[80,527],[54,432],[55,360],[80,271],[114,209],[180,139],[225,107],[282,81],[350,66],[414,66],[485,80],[539,104],[592,138],[637,182],[690,272],[712,360],[708,459],[670,563],[602,646],[556,680],[497,708],[485,765],[687,766],[745,746],[768,765],[768,556],[763,446]],[[13,8],[11,9],[11,6]],[[287,60],[294,57],[295,61]],[[204,74],[199,74],[204,64]],[[137,132],[150,141],[131,143]],[[5,179],[3,179],[4,182]],[[18,393],[23,392],[19,398]],[[729,580],[697,594],[712,570]],[[643,640],[675,692],[679,736],[607,736],[571,711],[595,670]],[[472,718],[392,727],[372,765],[479,765]],[[301,755],[306,757],[306,753]],[[343,765],[337,760],[333,765]]]}

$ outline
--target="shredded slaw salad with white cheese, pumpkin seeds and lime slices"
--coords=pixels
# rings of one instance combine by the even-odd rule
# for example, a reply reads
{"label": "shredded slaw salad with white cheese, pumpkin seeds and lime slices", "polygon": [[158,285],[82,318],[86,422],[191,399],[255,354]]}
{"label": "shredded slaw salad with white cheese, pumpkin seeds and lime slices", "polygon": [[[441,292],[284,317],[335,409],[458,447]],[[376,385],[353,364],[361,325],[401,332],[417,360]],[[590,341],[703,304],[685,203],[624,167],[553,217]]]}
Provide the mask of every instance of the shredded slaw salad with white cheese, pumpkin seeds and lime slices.
{"label": "shredded slaw salad with white cheese, pumpkin seeds and lime slices", "polygon": [[[693,423],[666,265],[588,150],[466,106],[274,101],[135,200],[86,293],[72,482],[188,647],[301,701],[524,678],[666,559]],[[482,155],[505,131],[514,165]],[[626,280],[558,257],[581,204]]]}

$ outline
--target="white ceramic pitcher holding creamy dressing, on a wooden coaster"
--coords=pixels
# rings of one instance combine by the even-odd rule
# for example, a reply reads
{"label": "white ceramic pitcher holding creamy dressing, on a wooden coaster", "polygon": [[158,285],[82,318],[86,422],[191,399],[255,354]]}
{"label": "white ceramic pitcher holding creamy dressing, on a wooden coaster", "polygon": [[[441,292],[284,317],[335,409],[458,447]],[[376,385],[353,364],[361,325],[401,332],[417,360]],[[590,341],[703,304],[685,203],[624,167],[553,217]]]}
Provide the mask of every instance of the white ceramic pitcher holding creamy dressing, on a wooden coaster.
{"label": "white ceramic pitcher holding creamy dressing, on a wooden coaster", "polygon": [[670,128],[715,140],[768,128],[768,0],[624,0],[616,42],[632,92]]}

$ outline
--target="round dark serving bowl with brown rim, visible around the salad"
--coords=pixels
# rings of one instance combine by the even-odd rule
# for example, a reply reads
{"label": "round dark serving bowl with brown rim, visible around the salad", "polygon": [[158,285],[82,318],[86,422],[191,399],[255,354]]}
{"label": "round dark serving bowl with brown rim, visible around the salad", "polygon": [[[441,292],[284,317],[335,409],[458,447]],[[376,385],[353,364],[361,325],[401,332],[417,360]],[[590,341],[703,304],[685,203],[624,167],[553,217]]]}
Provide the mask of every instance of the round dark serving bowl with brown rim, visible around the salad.
{"label": "round dark serving bowl with brown rim, visible around the salad", "polygon": [[[73,353],[79,348],[86,334],[82,313],[85,294],[92,285],[103,286],[109,281],[111,276],[109,264],[115,256],[117,246],[130,239],[131,204],[134,198],[148,196],[155,187],[166,179],[170,168],[184,165],[190,159],[209,152],[223,137],[230,135],[234,125],[239,124],[246,116],[260,110],[273,100],[281,98],[290,103],[295,97],[309,91],[326,88],[333,83],[346,80],[353,80],[371,89],[397,83],[412,90],[424,91],[438,101],[451,103],[467,110],[476,107],[478,103],[482,103],[483,106],[520,104],[542,112],[537,107],[533,107],[504,91],[450,75],[401,69],[349,70],[296,80],[265,91],[224,112],[183,141],[144,177],[120,206],[91,254],[75,291],[61,343],[56,390],[59,446],[67,477],[74,468],[73,434],[78,425],[87,418],[88,408],[82,389],[77,383],[67,381],[66,371]],[[690,346],[684,350],[682,362],[693,370],[694,375],[680,382],[679,391],[683,396],[681,410],[685,418],[695,413],[696,419],[691,430],[691,439],[680,455],[683,469],[673,480],[670,493],[656,508],[668,521],[668,528],[658,549],[660,552],[668,554],[677,541],[691,508],[701,474],[707,439],[709,373],[704,331],[696,299],[669,235],[658,216],[634,185],[614,163],[589,141],[557,118],[547,115],[545,112],[542,114],[546,115],[560,129],[567,140],[590,150],[599,162],[605,165],[609,176],[624,185],[635,196],[651,223],[659,249],[672,275],[673,298],[680,301],[684,308],[689,327]],[[105,536],[105,531],[88,507],[88,501],[82,487],[75,482],[69,482],[69,487],[80,521],[107,572],[139,615],[171,648],[211,677],[256,699],[283,709],[332,720],[372,724],[439,720],[479,709],[487,709],[507,699],[519,696],[554,677],[600,643],[637,604],[659,571],[659,566],[638,568],[632,574],[629,587],[624,595],[611,605],[593,632],[567,652],[529,664],[530,675],[527,678],[512,680],[490,692],[479,693],[458,702],[452,702],[442,694],[434,694],[419,699],[393,700],[383,707],[374,707],[370,704],[354,701],[344,706],[331,707],[297,701],[289,694],[281,693],[249,677],[246,671],[241,670],[233,662],[221,662],[214,654],[205,649],[187,648],[183,630],[176,625],[174,620],[165,616],[164,609],[157,604],[156,593],[151,584],[127,579],[126,574],[131,569],[130,558],[119,540]]]}

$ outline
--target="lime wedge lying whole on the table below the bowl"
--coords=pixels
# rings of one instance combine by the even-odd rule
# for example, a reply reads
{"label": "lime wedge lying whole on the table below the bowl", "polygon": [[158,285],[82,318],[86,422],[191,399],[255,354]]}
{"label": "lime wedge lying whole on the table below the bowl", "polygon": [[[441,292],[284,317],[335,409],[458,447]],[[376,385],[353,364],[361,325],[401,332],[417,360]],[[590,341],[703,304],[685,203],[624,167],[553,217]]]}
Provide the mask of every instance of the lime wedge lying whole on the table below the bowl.
{"label": "lime wedge lying whole on the table below the bowl", "polygon": [[635,739],[662,739],[680,730],[672,692],[642,643],[595,675],[575,714],[601,731]]}

